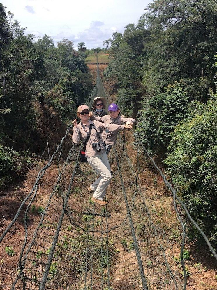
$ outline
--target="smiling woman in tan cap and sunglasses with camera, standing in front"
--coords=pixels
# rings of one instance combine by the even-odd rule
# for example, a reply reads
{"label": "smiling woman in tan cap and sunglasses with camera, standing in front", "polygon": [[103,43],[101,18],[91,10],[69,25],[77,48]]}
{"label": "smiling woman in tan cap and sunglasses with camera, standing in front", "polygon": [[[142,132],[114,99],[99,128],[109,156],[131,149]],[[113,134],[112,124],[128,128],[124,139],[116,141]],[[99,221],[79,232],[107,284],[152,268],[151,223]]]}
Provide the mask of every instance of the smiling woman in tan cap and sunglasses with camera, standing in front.
{"label": "smiling woman in tan cap and sunglasses with camera, standing in front", "polygon": [[[105,124],[98,121],[91,121],[89,119],[91,115],[88,106],[81,105],[78,107],[77,117],[81,119],[81,122],[77,124],[76,119],[72,122],[74,124],[72,140],[75,144],[78,144],[80,140],[86,144],[85,156],[87,157],[87,162],[101,175],[93,184],[90,185],[88,191],[93,193],[91,200],[103,206],[107,204],[103,199],[112,175],[105,148],[100,142],[100,130],[108,129],[110,131],[122,131],[125,128],[131,129],[132,126]],[[87,143],[85,143],[88,135],[89,139]]]}

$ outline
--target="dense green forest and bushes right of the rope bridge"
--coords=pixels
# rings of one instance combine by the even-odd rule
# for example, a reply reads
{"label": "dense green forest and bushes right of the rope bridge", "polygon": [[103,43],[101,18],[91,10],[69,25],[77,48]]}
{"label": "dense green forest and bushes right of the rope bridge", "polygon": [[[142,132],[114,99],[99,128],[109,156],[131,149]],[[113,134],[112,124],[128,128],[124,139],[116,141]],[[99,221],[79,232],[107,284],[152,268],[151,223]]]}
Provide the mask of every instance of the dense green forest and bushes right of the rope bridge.
{"label": "dense green forest and bushes right of the rope bridge", "polygon": [[[104,44],[123,112],[164,159],[195,221],[217,244],[217,5],[214,0],[156,0],[137,24]],[[138,113],[138,114],[137,114]],[[194,228],[190,237],[199,237]]]}

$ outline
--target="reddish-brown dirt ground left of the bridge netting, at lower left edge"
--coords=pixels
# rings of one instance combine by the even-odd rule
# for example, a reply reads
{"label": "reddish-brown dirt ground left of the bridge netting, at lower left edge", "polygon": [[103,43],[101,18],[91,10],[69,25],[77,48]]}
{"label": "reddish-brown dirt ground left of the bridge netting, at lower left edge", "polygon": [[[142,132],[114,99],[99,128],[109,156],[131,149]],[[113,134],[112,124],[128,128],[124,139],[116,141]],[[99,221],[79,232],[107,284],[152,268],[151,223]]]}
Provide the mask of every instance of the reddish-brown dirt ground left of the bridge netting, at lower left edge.
{"label": "reddish-brown dirt ground left of the bridge netting, at lower left edge", "polygon": [[[38,171],[45,163],[46,162],[40,162],[36,168],[29,170],[26,179],[18,180],[2,192],[1,195],[3,196],[0,199],[0,235],[6,230],[15,217],[20,204],[31,191]],[[27,215],[27,245],[31,242],[33,233],[41,219],[41,211],[46,207],[48,196],[52,192],[54,183],[57,180],[57,175],[57,168],[52,166],[47,169],[44,178],[39,182],[36,199]],[[0,244],[0,289],[10,289],[12,282],[18,274],[18,261],[25,237],[24,213],[27,205],[28,202],[21,210],[15,225]],[[6,247],[10,248],[6,249]]]}

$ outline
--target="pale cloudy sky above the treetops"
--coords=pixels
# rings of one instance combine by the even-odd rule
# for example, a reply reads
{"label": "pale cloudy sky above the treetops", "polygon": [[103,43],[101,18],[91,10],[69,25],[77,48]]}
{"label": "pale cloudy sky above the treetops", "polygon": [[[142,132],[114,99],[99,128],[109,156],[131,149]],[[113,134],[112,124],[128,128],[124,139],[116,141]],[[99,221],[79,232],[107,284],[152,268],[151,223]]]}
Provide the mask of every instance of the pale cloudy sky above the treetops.
{"label": "pale cloudy sky above the treetops", "polygon": [[152,0],[0,0],[6,12],[26,27],[25,34],[44,34],[56,44],[63,38],[72,40],[74,47],[84,42],[87,48],[105,47],[103,41],[124,26],[137,23]]}

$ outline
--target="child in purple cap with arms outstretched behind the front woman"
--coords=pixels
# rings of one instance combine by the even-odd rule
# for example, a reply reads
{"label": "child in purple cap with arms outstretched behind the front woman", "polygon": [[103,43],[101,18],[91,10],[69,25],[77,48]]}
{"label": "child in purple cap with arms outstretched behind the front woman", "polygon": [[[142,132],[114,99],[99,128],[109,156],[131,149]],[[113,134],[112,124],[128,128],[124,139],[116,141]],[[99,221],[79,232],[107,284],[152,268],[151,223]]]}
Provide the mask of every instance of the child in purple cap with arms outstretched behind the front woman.
{"label": "child in purple cap with arms outstretched behind the front woman", "polygon": [[[120,110],[117,104],[110,104],[108,107],[109,115],[103,117],[91,116],[91,119],[100,121],[106,124],[115,124],[115,125],[132,125],[135,124],[136,120],[133,118],[125,118],[119,116]],[[103,143],[106,154],[108,155],[112,146],[116,144],[118,132],[110,131],[109,129],[104,130],[100,134],[100,141]]]}

